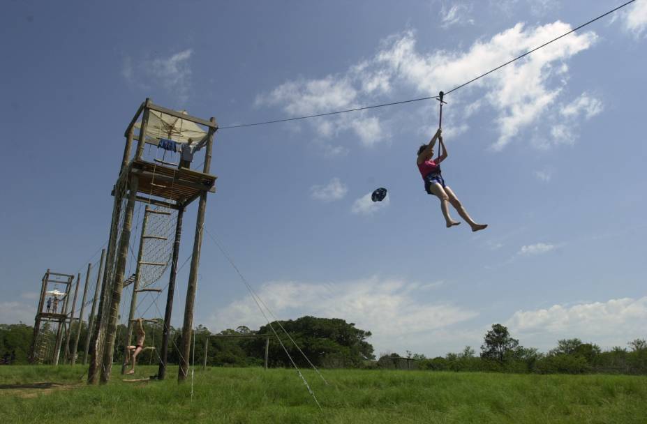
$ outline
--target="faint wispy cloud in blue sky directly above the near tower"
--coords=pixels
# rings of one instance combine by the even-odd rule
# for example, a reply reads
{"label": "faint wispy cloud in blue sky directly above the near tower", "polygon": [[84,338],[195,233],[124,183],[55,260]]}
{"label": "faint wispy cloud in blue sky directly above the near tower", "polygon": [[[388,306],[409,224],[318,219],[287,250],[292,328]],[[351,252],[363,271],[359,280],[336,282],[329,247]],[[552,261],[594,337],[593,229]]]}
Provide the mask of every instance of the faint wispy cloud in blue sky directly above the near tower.
{"label": "faint wispy cloud in blue sky directly above the near tower", "polygon": [[187,49],[168,57],[144,59],[133,64],[131,57],[124,59],[121,75],[129,84],[148,89],[161,86],[181,103],[188,100],[191,91],[191,64],[193,50]]}

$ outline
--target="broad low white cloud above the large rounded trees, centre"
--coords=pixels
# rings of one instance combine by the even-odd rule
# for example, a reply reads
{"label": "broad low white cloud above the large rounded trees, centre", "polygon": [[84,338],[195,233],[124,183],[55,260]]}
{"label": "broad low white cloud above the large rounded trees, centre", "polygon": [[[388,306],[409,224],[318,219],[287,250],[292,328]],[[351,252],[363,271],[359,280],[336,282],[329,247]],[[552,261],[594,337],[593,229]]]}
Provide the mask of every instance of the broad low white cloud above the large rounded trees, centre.
{"label": "broad low white cloud above the large rounded trees, centre", "polygon": [[[435,301],[424,296],[425,290],[438,285],[440,282],[379,277],[341,282],[278,281],[262,285],[258,295],[279,319],[313,315],[354,322],[357,328],[373,333],[369,341],[379,353],[385,349],[408,349],[413,338],[420,338],[413,335],[430,334],[477,316],[477,312],[438,301],[438,296],[433,296]],[[253,328],[265,321],[248,296],[216,312],[209,324],[212,328],[235,328],[242,324]],[[429,343],[431,338],[424,340]]]}

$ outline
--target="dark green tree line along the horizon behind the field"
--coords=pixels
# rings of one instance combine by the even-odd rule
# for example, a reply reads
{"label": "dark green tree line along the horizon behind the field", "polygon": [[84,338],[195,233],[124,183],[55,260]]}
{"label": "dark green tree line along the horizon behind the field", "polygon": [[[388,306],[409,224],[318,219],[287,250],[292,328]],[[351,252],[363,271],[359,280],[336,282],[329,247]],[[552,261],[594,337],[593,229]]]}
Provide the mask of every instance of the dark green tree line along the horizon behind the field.
{"label": "dark green tree line along the horizon behind the field", "polygon": [[[145,345],[156,349],[145,350],[138,357],[140,364],[158,364],[158,350],[162,344],[162,320],[143,324],[146,332]],[[285,354],[288,351],[298,366],[308,366],[304,355],[285,335],[283,328],[297,342],[301,351],[316,366],[321,368],[403,368],[420,370],[484,371],[484,372],[534,372],[539,374],[606,372],[622,374],[647,374],[647,341],[635,339],[626,347],[613,347],[602,351],[598,345],[582,342],[579,338],[558,340],[556,347],[542,353],[534,347],[523,347],[519,340],[512,338],[510,331],[493,324],[484,335],[480,352],[472,347],[445,356],[427,358],[422,354],[407,351],[405,355],[382,354],[375,361],[373,346],[368,342],[370,331],[357,328],[354,323],[343,319],[301,317],[285,321],[274,321],[258,330],[246,326],[211,333],[208,328],[198,326],[194,330],[195,351],[192,361],[204,363],[205,350],[208,366],[248,367],[262,366],[265,361],[265,343],[269,338],[268,363],[270,367],[290,367]],[[41,335],[50,357],[54,346],[55,332],[43,326]],[[114,361],[124,361],[126,326],[118,328]],[[70,340],[75,340],[77,326],[73,326]],[[87,325],[80,328],[80,340],[87,337]],[[276,334],[274,333],[276,331]],[[26,324],[0,324],[0,363],[28,363],[33,327]],[[223,337],[223,336],[246,337]],[[278,335],[278,338],[277,338]],[[255,337],[248,337],[255,336]],[[179,363],[177,347],[180,345],[181,328],[170,329],[168,362]],[[280,342],[279,342],[280,340]],[[82,345],[82,343],[80,344]],[[206,349],[205,349],[206,347]],[[285,349],[285,350],[284,350]],[[65,355],[61,349],[61,363]],[[82,355],[82,351],[79,352]],[[77,363],[79,361],[77,360]],[[47,363],[47,360],[44,361]]]}

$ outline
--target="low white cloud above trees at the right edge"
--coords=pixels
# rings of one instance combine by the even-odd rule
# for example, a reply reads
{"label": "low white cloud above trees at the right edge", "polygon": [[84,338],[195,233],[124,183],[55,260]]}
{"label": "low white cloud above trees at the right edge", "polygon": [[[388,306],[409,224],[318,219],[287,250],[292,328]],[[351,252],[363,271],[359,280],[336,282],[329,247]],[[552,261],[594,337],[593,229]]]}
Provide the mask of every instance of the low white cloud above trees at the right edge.
{"label": "low white cloud above trees at the right edge", "polygon": [[644,337],[646,319],[647,297],[642,297],[519,310],[514,312],[506,325],[513,335],[521,333],[522,337],[533,336],[535,342],[544,340],[556,345],[558,339],[577,337],[611,347],[623,346],[634,338]]}

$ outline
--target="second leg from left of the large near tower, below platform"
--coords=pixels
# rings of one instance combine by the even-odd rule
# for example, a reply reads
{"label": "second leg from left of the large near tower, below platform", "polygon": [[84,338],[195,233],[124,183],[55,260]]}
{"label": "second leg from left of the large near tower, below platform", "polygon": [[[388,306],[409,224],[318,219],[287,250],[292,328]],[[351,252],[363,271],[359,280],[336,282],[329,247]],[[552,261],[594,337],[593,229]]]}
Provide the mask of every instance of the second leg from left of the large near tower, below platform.
{"label": "second leg from left of the large near tower, below platform", "polygon": [[117,267],[114,271],[114,283],[112,283],[112,298],[110,299],[110,315],[107,317],[107,330],[103,346],[103,363],[101,366],[101,383],[110,381],[112,371],[112,358],[114,356],[114,339],[117,336],[117,317],[119,317],[119,303],[121,303],[121,290],[124,289],[124,273],[126,272],[126,261],[128,259],[128,243],[131,240],[131,227],[133,225],[133,210],[135,209],[135,198],[137,197],[137,186],[139,179],[136,175],[131,177],[130,193],[124,217],[124,227],[121,229],[119,239],[119,255],[117,256]]}

